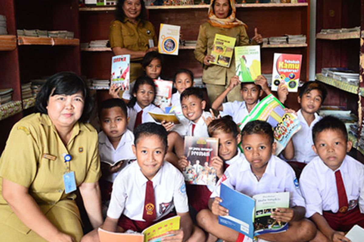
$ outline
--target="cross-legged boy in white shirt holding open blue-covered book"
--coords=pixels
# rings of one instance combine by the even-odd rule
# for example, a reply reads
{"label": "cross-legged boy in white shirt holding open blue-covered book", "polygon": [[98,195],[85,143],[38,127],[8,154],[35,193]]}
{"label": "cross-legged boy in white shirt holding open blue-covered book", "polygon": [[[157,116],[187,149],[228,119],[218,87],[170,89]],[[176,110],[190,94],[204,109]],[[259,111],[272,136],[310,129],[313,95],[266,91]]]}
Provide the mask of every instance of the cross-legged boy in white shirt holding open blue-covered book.
{"label": "cross-legged boy in white shirt holding open blue-covered book", "polygon": [[209,207],[197,214],[198,225],[209,233],[207,241],[221,238],[226,241],[244,241],[245,236],[223,225],[218,216],[228,215],[227,209],[219,205],[220,184],[233,188],[248,196],[269,192],[290,192],[290,208],[277,208],[272,218],[278,222],[289,222],[288,230],[268,233],[258,238],[268,241],[309,241],[316,234],[316,227],[304,219],[305,202],[301,197],[293,169],[274,156],[273,130],[269,123],[255,120],[242,130],[244,160],[229,166],[211,194]]}

